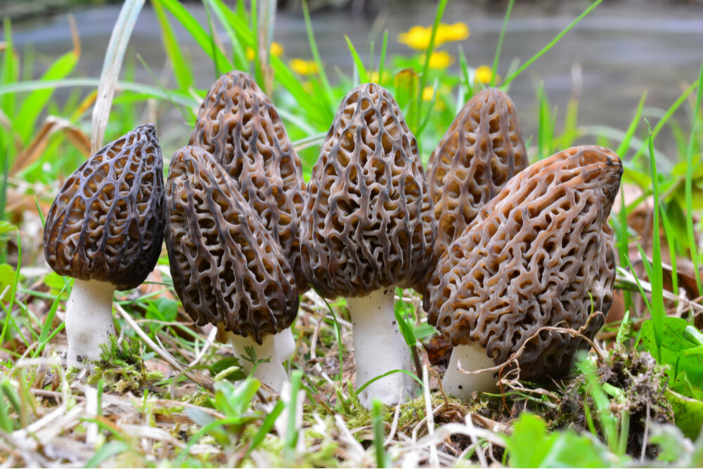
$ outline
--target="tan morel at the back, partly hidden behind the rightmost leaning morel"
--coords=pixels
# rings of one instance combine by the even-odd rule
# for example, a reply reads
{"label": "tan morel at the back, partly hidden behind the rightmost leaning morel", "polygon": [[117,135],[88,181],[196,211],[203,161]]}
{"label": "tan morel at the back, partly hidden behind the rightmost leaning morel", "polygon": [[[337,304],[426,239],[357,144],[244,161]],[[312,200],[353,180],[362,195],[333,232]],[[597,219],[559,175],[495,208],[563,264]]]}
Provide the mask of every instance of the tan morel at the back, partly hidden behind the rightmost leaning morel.
{"label": "tan morel at the back, partly hidden behind the rightmost leaning morel", "polygon": [[[427,165],[437,218],[437,258],[508,180],[526,167],[527,151],[515,105],[500,89],[479,91],[454,118]],[[418,285],[424,293],[425,310],[432,271]]]}

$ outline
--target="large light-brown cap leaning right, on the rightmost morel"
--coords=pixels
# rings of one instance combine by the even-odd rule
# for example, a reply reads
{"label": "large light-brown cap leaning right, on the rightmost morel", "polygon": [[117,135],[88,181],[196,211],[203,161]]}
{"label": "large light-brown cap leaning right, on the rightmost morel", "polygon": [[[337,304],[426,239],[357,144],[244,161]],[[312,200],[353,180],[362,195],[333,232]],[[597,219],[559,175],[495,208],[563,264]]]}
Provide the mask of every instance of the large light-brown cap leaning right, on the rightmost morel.
{"label": "large light-brown cap leaning right, on the rightmost morel", "polygon": [[[452,345],[474,341],[502,364],[522,345],[522,379],[558,378],[612,304],[608,225],[623,169],[612,150],[578,146],[508,181],[437,262],[428,322]],[[589,320],[591,311],[600,313]]]}

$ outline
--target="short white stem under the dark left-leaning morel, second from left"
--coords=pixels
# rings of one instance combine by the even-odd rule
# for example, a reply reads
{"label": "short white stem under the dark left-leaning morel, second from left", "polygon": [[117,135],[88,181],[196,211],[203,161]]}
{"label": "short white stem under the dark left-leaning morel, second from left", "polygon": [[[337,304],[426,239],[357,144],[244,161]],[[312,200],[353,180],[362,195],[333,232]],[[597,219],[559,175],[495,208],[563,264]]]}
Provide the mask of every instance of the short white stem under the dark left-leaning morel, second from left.
{"label": "short white stem under the dark left-leaning morel, second from left", "polygon": [[269,363],[260,363],[257,366],[253,377],[270,387],[275,394],[279,394],[283,383],[288,380],[288,375],[285,373],[285,368],[283,368],[283,360],[280,359],[280,355],[278,354],[275,336],[266,335],[262,345],[257,344],[251,335],[249,337],[243,337],[242,335],[228,332],[227,337],[229,341],[232,342],[234,354],[239,359],[242,371],[247,373],[247,375],[254,369],[254,364],[245,358],[249,356],[245,351],[245,347],[254,348],[257,360],[269,359]]}

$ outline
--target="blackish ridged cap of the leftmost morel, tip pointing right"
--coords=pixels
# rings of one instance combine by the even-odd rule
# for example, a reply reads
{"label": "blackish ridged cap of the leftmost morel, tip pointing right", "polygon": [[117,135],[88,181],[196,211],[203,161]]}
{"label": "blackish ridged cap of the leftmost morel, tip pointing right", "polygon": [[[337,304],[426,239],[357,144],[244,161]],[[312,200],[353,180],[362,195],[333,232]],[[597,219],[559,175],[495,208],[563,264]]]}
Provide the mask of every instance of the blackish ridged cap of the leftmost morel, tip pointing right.
{"label": "blackish ridged cap of the leftmost morel, tip pointing right", "polygon": [[59,275],[136,288],[164,232],[164,176],[153,124],[103,146],[67,179],[49,209],[44,257]]}

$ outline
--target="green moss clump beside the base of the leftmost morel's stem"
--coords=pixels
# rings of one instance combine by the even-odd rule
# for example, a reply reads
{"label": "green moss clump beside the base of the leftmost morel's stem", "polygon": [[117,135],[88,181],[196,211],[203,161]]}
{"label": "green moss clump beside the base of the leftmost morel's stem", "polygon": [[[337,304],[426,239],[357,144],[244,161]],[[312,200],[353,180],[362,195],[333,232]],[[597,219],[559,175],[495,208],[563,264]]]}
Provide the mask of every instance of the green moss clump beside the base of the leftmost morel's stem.
{"label": "green moss clump beside the base of the leftmost morel's stem", "polygon": [[94,373],[88,378],[89,384],[95,385],[103,379],[106,391],[120,394],[131,391],[141,395],[163,378],[163,373],[148,371],[144,365],[138,340],[125,338],[117,342],[117,338],[110,335],[110,342],[102,344],[101,349],[100,359],[91,362]]}

